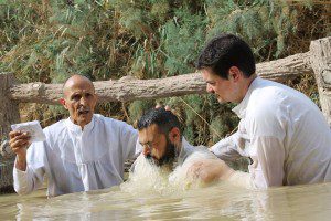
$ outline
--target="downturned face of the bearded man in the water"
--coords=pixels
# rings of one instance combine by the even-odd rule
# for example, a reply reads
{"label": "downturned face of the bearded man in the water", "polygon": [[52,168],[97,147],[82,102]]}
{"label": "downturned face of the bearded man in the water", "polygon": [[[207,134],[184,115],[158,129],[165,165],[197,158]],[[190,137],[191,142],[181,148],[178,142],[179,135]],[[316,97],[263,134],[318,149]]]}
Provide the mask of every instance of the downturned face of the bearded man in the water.
{"label": "downturned face of the bearded man in the water", "polygon": [[139,143],[143,146],[143,155],[157,166],[172,164],[175,157],[175,145],[159,131],[158,125],[152,124],[138,131]]}

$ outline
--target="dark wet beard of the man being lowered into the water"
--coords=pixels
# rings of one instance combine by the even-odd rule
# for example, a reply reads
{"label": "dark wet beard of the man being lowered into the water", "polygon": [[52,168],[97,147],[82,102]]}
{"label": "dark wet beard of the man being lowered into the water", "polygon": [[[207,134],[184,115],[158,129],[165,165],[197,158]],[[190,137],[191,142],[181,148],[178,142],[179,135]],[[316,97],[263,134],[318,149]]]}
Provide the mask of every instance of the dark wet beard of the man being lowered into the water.
{"label": "dark wet beard of the man being lowered into the water", "polygon": [[177,157],[178,157],[177,147],[174,144],[171,144],[171,141],[168,139],[167,139],[166,152],[160,159],[153,158],[150,154],[146,156],[146,158],[150,162],[154,164],[158,167],[171,166],[171,168]]}

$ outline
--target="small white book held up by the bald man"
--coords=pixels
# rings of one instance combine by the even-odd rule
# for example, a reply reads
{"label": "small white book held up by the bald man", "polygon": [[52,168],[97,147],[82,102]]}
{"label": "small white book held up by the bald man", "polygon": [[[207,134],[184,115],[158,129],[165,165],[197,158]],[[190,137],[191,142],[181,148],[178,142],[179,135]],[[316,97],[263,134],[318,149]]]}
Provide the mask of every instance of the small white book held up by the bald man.
{"label": "small white book held up by the bald man", "polygon": [[30,141],[44,141],[46,139],[46,136],[38,120],[14,124],[14,125],[11,125],[11,129],[12,130],[21,130],[23,133],[26,131],[29,134],[29,136],[31,137]]}

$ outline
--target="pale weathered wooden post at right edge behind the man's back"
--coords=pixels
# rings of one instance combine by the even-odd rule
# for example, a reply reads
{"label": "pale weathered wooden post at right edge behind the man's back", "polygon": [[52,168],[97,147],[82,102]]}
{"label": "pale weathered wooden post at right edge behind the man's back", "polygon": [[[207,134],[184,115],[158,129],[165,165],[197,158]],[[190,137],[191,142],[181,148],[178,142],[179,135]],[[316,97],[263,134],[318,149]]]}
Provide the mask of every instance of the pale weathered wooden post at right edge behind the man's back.
{"label": "pale weathered wooden post at right edge behind the man's back", "polygon": [[312,41],[310,52],[322,112],[331,126],[331,36]]}

